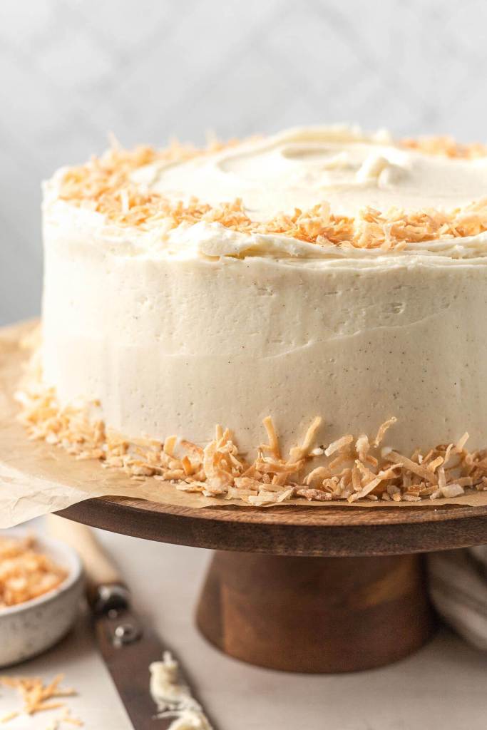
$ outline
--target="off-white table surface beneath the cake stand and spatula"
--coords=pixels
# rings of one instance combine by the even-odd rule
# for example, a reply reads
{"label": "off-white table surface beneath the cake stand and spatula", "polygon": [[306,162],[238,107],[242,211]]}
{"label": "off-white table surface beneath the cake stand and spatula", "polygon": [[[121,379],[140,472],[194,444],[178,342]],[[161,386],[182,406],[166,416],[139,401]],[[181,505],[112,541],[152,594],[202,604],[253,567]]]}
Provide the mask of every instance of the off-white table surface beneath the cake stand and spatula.
{"label": "off-white table surface beneath the cake stand and spatula", "polygon": [[[487,654],[442,629],[414,656],[384,669],[350,675],[291,675],[223,656],[196,631],[193,612],[210,558],[207,550],[98,531],[123,569],[137,610],[166,639],[197,685],[218,730],[485,730]],[[353,651],[353,647],[350,647]],[[67,701],[87,730],[131,724],[93,645],[89,624],[10,675],[58,672],[78,696]],[[1,690],[0,715],[18,707]],[[6,730],[45,730],[56,712],[18,718]],[[154,721],[154,728],[158,726]],[[2,726],[3,727],[3,726]],[[63,730],[70,726],[63,726]]]}

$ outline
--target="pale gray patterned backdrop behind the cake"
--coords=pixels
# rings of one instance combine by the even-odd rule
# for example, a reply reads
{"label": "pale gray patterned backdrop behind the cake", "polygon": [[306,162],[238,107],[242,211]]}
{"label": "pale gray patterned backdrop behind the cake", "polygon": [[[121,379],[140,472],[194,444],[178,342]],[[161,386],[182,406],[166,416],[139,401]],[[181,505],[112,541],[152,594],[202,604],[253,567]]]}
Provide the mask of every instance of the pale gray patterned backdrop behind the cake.
{"label": "pale gray patterned backdrop behind the cake", "polygon": [[126,145],[353,120],[487,139],[483,0],[0,0],[0,323],[39,310],[39,182]]}

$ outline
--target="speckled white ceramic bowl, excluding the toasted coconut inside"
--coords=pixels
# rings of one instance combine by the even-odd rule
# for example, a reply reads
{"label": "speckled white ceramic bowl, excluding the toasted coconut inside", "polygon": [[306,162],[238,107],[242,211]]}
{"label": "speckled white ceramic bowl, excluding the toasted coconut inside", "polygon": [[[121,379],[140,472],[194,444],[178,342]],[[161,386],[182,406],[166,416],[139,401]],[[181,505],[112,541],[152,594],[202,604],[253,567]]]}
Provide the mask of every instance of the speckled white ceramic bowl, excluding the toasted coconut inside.
{"label": "speckled white ceramic bowl, excluding the toasted coconut inside", "polygon": [[[25,537],[20,530],[2,530],[7,537]],[[83,568],[77,553],[56,539],[37,535],[40,552],[68,572],[58,588],[38,598],[0,608],[0,667],[18,664],[53,646],[71,629],[83,594]]]}

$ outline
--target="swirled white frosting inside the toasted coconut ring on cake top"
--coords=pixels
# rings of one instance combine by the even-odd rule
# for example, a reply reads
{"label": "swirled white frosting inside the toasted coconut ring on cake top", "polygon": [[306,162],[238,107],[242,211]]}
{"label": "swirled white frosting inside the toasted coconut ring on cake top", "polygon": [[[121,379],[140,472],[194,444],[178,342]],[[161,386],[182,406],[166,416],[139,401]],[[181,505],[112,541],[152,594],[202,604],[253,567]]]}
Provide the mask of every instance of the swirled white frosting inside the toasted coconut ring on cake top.
{"label": "swirled white frosting inside the toasted coconut ring on cake top", "polygon": [[139,183],[171,199],[211,204],[242,198],[253,220],[326,200],[340,215],[361,207],[453,208],[485,196],[487,157],[424,155],[386,134],[352,128],[297,128],[182,164],[139,169]]}

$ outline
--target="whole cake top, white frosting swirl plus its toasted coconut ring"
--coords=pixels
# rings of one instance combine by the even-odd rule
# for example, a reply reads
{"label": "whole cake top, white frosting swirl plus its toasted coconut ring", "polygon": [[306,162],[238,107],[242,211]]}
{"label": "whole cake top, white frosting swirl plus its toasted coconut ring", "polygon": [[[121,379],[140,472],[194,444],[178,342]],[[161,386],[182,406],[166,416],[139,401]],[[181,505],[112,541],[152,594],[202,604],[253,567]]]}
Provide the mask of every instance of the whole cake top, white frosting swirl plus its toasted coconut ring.
{"label": "whole cake top, white frosting swirl plus its toasted coconut ring", "polygon": [[88,210],[96,226],[149,232],[163,247],[211,240],[212,250],[199,248],[210,256],[321,258],[331,249],[434,251],[439,242],[461,257],[483,255],[486,193],[481,145],[318,127],[206,150],[115,147],[61,170],[46,206]]}

